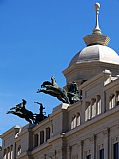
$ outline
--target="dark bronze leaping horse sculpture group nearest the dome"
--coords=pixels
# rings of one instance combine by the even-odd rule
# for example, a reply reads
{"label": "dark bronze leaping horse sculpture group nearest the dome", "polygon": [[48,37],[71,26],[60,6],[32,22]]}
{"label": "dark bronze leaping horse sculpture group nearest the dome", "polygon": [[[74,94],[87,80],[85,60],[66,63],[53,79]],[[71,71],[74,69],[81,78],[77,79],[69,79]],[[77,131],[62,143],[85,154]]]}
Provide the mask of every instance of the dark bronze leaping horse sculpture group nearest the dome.
{"label": "dark bronze leaping horse sculpture group nearest the dome", "polygon": [[51,82],[45,81],[38,89],[37,93],[43,92],[53,97],[57,97],[63,103],[73,104],[80,100],[78,85],[74,81],[67,86],[67,91],[57,85],[55,78],[51,77]]}

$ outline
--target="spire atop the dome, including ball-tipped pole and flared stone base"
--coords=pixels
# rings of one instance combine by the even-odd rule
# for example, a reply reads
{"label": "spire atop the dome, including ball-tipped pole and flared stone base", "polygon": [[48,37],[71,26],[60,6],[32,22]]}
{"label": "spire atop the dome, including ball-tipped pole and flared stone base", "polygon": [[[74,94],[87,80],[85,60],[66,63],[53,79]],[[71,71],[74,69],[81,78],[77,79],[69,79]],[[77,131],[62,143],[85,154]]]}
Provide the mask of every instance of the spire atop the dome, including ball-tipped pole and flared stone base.
{"label": "spire atop the dome, including ball-tipped pole and flared stone base", "polygon": [[91,35],[87,35],[84,37],[84,41],[87,46],[89,45],[108,45],[110,38],[107,35],[103,35],[101,33],[100,27],[99,27],[99,10],[100,10],[100,4],[95,4],[95,11],[96,11],[96,25],[93,29],[93,33]]}

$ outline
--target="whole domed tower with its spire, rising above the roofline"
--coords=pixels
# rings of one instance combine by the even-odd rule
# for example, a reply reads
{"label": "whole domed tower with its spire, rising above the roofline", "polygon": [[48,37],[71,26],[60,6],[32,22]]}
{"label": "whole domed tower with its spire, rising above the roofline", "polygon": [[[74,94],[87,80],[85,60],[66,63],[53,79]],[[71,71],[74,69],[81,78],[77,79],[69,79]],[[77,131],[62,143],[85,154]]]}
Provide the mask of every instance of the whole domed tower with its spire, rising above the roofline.
{"label": "whole domed tower with its spire, rising above the roofline", "polygon": [[91,79],[104,70],[110,70],[112,75],[119,74],[119,56],[108,47],[110,38],[103,35],[99,27],[100,4],[95,4],[96,25],[91,35],[84,37],[86,47],[79,51],[63,73],[67,82]]}

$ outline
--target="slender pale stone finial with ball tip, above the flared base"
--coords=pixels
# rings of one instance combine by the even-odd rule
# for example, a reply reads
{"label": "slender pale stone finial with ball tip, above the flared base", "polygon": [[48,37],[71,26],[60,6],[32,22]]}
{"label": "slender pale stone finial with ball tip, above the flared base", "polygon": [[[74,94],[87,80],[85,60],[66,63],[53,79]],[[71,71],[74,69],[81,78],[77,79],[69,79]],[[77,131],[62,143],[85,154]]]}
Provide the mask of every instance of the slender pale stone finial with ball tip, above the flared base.
{"label": "slender pale stone finial with ball tip, above the flared base", "polygon": [[99,10],[100,10],[100,4],[99,3],[96,3],[95,4],[95,11],[96,11],[96,25],[95,25],[95,28],[93,30],[93,34],[101,34],[101,30],[100,30],[100,27],[99,27]]}

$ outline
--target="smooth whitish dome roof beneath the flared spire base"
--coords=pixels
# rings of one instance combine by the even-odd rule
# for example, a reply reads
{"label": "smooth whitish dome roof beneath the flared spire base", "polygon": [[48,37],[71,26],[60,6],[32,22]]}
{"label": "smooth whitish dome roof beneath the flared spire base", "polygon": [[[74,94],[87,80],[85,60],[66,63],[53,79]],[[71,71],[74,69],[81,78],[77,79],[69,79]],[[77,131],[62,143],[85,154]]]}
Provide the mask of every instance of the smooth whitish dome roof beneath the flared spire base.
{"label": "smooth whitish dome roof beneath the flared spire base", "polygon": [[71,66],[74,63],[91,61],[119,64],[119,56],[114,50],[107,46],[92,45],[85,47],[82,51],[78,52],[69,65]]}

